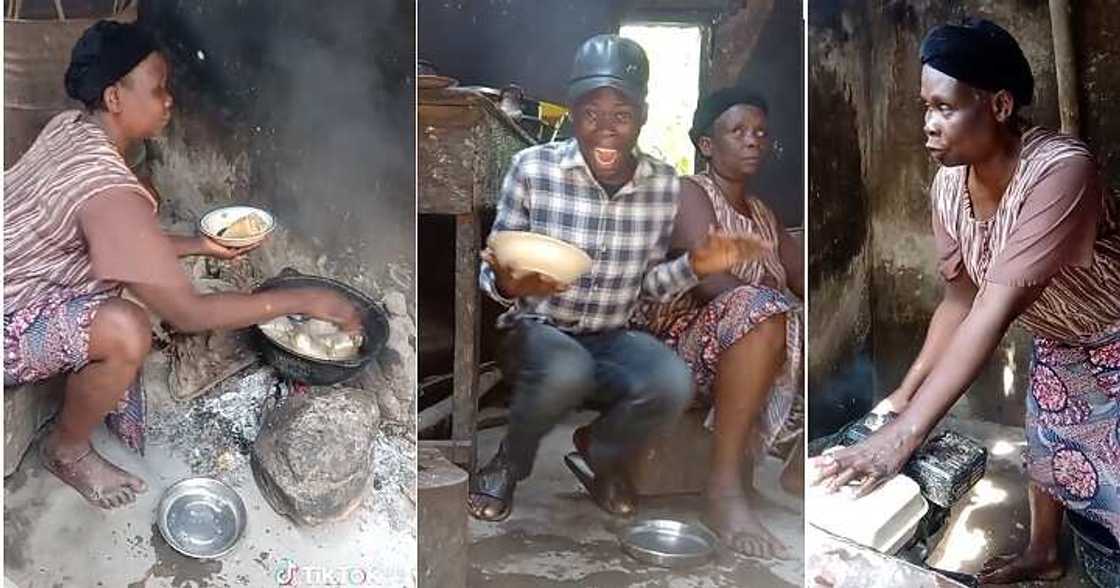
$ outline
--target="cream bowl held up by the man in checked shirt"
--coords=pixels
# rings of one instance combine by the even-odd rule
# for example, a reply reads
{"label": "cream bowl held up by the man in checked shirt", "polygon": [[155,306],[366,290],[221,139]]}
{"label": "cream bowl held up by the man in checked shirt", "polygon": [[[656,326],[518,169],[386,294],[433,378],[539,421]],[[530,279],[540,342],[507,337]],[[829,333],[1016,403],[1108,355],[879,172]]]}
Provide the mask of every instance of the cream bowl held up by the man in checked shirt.
{"label": "cream bowl held up by the man in checked shirt", "polygon": [[489,236],[497,262],[516,273],[536,272],[560,283],[571,283],[591,269],[584,250],[548,235],[498,231]]}

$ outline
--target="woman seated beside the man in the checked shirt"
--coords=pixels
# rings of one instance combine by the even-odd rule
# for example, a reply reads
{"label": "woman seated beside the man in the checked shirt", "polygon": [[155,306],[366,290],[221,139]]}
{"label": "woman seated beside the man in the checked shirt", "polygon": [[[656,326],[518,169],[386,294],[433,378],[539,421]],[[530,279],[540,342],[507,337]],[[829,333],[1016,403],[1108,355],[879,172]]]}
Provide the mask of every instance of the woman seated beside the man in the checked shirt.
{"label": "woman seated beside the man in the checked shirt", "polygon": [[[708,168],[681,183],[672,249],[687,251],[715,227],[758,236],[773,250],[635,316],[684,358],[700,393],[715,402],[706,519],[729,547],[759,557],[784,549],[754,513],[744,472],[750,455],[775,440],[801,394],[801,318],[785,291],[803,293],[800,248],[752,186],[769,150],[766,113],[763,99],[740,88],[699,104],[689,134]],[[796,469],[793,460],[783,473],[787,487],[796,485]]]}

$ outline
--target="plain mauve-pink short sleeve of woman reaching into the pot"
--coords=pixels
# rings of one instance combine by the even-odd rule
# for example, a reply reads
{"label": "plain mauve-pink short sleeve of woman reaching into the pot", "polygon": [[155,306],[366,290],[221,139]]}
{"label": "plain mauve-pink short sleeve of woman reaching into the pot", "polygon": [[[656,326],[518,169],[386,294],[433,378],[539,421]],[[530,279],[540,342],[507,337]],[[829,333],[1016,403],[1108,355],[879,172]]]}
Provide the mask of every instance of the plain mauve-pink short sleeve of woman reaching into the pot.
{"label": "plain mauve-pink short sleeve of woman reaching into the pot", "polygon": [[80,215],[97,279],[160,286],[186,282],[175,249],[147,197],[131,190],[106,190],[83,204]]}

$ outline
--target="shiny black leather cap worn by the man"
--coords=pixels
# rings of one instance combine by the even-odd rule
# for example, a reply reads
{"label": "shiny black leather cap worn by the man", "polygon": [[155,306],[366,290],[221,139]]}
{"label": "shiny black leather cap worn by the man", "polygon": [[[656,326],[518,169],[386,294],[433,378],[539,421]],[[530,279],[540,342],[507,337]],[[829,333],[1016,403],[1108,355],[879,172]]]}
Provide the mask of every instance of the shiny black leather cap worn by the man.
{"label": "shiny black leather cap worn by the man", "polygon": [[596,35],[576,52],[568,81],[568,103],[592,90],[613,87],[634,102],[645,102],[650,60],[637,43],[618,35]]}

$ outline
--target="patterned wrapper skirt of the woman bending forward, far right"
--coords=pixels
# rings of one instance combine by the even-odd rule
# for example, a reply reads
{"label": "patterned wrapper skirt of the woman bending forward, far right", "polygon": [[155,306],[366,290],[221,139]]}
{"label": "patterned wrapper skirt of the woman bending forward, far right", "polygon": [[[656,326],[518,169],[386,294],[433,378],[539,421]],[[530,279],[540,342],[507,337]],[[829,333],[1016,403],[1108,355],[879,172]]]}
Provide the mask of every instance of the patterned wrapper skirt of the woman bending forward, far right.
{"label": "patterned wrapper skirt of the woman bending forward, far right", "polygon": [[1120,326],[1088,345],[1035,339],[1027,475],[1120,540]]}

